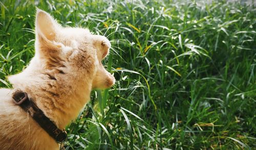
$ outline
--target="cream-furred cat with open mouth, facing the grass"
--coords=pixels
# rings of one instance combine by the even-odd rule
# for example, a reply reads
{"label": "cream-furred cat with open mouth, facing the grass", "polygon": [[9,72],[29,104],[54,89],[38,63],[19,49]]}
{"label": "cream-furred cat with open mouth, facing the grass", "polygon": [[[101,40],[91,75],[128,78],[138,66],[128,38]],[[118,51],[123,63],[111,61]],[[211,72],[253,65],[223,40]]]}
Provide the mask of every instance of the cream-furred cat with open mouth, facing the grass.
{"label": "cream-furred cat with open mouth, facing the grass", "polygon": [[37,8],[35,56],[19,74],[8,77],[13,89],[0,89],[0,149],[59,149],[59,144],[19,105],[12,93],[26,92],[62,129],[90,100],[93,89],[112,87],[115,78],[101,63],[110,41],[88,29],[62,27]]}

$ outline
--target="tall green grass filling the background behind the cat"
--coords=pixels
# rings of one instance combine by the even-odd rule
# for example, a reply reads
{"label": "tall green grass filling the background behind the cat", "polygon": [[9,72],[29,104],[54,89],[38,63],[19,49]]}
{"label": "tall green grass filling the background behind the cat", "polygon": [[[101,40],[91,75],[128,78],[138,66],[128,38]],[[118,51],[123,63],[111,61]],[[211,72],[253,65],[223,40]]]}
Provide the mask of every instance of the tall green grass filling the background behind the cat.
{"label": "tall green grass filling the background behind the cat", "polygon": [[225,1],[0,2],[0,86],[34,55],[35,7],[112,42],[66,149],[256,148],[256,8]]}

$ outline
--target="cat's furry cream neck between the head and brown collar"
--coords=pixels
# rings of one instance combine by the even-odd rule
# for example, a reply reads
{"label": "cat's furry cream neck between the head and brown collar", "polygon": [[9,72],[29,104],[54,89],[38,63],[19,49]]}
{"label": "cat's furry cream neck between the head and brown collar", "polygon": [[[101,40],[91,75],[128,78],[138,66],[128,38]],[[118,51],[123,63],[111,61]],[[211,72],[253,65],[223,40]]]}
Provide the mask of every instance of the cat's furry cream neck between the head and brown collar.
{"label": "cat's furry cream neck between the head and brown collar", "polygon": [[14,88],[26,92],[59,128],[75,119],[90,100],[92,80],[66,70],[35,73],[28,68],[9,80]]}

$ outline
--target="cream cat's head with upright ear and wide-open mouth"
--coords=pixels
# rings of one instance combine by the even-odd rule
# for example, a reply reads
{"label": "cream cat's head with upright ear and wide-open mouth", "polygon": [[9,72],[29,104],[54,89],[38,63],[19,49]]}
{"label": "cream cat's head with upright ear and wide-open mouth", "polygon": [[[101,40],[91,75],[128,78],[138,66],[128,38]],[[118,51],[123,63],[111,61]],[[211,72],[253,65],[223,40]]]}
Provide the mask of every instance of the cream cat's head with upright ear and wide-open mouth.
{"label": "cream cat's head with upright ear and wide-open mouth", "polygon": [[115,78],[101,63],[109,54],[110,41],[88,29],[62,27],[47,12],[37,9],[36,57],[46,70],[69,68],[69,73],[92,80],[93,89],[105,89]]}

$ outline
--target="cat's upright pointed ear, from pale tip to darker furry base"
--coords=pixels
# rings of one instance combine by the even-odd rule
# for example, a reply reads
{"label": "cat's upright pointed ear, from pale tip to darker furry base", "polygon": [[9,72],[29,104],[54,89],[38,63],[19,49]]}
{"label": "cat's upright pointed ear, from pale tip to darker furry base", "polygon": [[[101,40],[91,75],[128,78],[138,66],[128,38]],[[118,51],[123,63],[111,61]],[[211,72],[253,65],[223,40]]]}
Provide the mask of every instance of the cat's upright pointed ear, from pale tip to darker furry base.
{"label": "cat's upright pointed ear, from pale tip to darker furry base", "polygon": [[46,67],[63,67],[61,50],[63,45],[57,42],[57,35],[61,26],[47,12],[36,10],[35,20],[35,51],[36,55],[44,60]]}

